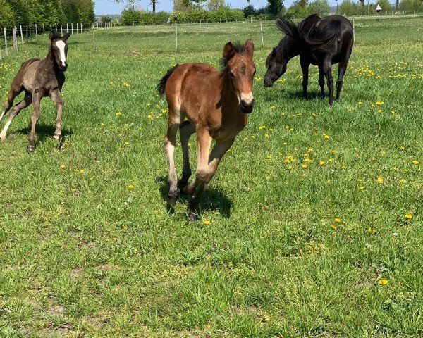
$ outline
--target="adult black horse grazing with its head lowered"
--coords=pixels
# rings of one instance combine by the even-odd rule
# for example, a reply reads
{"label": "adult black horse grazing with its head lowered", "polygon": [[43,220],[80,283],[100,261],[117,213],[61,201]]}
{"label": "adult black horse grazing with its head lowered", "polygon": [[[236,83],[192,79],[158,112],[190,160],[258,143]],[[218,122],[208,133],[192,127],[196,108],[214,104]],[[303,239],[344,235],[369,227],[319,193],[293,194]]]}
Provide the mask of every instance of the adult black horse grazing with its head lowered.
{"label": "adult black horse grazing with its head lowered", "polygon": [[340,15],[319,18],[309,15],[298,27],[287,18],[278,18],[278,27],[286,34],[266,59],[264,87],[271,87],[283,73],[286,64],[300,55],[302,69],[302,94],[307,97],[308,68],[310,63],[319,66],[319,85],[324,95],[324,76],[328,81],[329,104],[333,103],[332,65],[339,63],[336,82],[336,100],[342,88],[342,79],[348,59],[353,51],[353,25]]}

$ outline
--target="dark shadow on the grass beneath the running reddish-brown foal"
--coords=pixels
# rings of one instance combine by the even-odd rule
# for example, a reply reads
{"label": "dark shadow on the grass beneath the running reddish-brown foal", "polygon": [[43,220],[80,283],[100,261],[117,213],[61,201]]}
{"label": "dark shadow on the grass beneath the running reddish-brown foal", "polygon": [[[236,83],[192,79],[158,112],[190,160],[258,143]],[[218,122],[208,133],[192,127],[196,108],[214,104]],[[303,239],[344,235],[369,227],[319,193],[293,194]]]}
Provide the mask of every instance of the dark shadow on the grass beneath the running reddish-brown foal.
{"label": "dark shadow on the grass beneath the running reddish-brown foal", "polygon": [[[160,184],[159,191],[161,198],[164,202],[166,202],[169,189],[167,177],[156,177],[155,182]],[[184,194],[179,194],[178,196],[178,202],[181,203],[187,203],[190,199],[191,196]],[[232,202],[223,194],[223,192],[221,192],[220,189],[213,189],[209,187],[205,189],[200,201],[200,215],[203,211],[217,210],[223,218],[229,218],[229,216],[231,216],[231,208]],[[173,212],[173,210],[170,210],[170,212]]]}

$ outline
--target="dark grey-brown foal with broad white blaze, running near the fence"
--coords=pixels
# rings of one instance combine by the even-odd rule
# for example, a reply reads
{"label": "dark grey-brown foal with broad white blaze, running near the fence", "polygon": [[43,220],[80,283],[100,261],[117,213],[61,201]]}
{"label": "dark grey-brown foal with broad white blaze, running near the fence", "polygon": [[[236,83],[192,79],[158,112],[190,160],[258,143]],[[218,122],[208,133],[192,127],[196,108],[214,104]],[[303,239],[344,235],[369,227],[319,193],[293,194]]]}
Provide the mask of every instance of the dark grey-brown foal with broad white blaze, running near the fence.
{"label": "dark grey-brown foal with broad white blaze, running near the fence", "polygon": [[66,56],[68,54],[66,40],[70,36],[70,32],[63,37],[57,32],[50,32],[50,47],[46,58],[44,58],[44,60],[31,58],[20,67],[18,74],[16,74],[12,81],[4,111],[0,115],[0,121],[11,109],[13,100],[16,96],[25,91],[25,97],[16,104],[9,113],[9,118],[3,130],[0,132],[0,139],[6,139],[6,132],[13,118],[15,118],[23,108],[26,108],[32,103],[31,132],[27,149],[28,151],[33,151],[35,125],[39,118],[39,101],[45,96],[50,96],[51,100],[56,104],[56,131],[53,137],[59,139],[61,135],[61,113],[63,109],[61,89],[65,82],[64,72],[68,68],[68,64],[66,63]]}

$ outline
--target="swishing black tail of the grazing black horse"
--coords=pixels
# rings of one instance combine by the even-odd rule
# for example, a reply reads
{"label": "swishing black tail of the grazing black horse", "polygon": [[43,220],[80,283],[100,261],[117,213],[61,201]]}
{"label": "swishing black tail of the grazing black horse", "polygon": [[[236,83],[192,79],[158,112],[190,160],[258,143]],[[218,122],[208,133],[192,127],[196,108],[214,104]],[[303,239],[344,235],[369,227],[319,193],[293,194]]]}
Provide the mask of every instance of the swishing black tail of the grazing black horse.
{"label": "swishing black tail of the grazing black horse", "polygon": [[333,51],[336,40],[341,37],[341,21],[335,20],[328,23],[321,30],[314,30],[302,33],[302,39],[310,49],[321,51]]}

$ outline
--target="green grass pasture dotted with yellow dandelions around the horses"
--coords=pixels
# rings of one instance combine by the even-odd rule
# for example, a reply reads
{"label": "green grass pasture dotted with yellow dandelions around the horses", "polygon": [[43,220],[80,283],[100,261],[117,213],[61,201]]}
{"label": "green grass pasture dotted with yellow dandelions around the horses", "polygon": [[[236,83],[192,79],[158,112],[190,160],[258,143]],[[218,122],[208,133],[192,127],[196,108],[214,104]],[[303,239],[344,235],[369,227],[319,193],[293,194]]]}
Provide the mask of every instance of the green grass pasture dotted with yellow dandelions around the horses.
{"label": "green grass pasture dotted with yellow dandelions around the horses", "polygon": [[[0,337],[421,337],[422,28],[356,19],[332,107],[314,67],[302,99],[298,58],[264,88],[274,22],[264,47],[259,23],[180,25],[178,52],[169,26],[96,31],[95,53],[71,36],[61,151],[48,99],[33,154],[28,108],[0,143]],[[187,224],[188,199],[166,211],[155,87],[249,37],[255,109]],[[2,101],[47,46],[0,64]]]}

